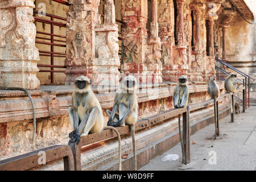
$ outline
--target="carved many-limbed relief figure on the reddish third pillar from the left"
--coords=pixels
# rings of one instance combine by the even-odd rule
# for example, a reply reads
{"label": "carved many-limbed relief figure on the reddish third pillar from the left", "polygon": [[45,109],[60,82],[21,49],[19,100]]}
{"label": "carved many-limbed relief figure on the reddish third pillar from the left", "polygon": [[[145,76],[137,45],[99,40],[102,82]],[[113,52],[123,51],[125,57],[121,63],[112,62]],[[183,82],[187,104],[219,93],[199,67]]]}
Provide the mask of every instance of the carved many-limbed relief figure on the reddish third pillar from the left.
{"label": "carved many-limbed relief figure on the reddish third pillar from the left", "polygon": [[132,63],[134,60],[139,59],[139,53],[141,50],[141,46],[139,46],[138,43],[136,43],[137,40],[133,39],[131,40],[129,43],[125,44],[125,42],[123,42],[123,46],[125,47],[123,50],[123,54],[124,54],[124,59],[123,62],[128,62],[129,60],[131,60],[130,62]]}

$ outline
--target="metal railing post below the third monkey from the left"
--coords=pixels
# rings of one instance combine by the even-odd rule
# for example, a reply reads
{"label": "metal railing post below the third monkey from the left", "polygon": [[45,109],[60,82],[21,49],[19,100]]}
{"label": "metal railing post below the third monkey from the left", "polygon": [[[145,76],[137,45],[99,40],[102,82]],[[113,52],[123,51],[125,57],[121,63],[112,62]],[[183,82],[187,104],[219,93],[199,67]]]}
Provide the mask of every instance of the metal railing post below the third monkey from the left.
{"label": "metal railing post below the third monkey from the left", "polygon": [[183,113],[183,147],[182,147],[182,163],[188,164],[190,162],[190,142],[189,142],[189,106],[187,106],[187,111]]}

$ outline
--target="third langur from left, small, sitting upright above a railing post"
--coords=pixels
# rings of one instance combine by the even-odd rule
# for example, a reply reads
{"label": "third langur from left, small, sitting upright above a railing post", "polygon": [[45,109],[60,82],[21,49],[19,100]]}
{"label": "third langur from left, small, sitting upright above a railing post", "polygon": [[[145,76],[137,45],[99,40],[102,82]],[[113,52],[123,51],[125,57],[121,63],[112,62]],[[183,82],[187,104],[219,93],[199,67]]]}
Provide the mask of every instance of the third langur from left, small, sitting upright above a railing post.
{"label": "third langur from left, small, sitting upright above a railing post", "polygon": [[174,107],[181,108],[185,107],[188,104],[188,78],[187,76],[180,76],[179,81],[174,89]]}

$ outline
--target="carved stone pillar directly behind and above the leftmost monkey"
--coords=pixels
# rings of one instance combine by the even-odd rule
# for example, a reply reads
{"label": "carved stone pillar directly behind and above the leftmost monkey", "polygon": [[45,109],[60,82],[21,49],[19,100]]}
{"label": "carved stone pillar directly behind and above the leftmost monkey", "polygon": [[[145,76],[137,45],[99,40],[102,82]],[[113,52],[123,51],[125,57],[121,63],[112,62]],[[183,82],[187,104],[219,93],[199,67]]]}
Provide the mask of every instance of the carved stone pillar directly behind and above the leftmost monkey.
{"label": "carved stone pillar directly behind and above the leftmost monkey", "polygon": [[105,1],[104,24],[98,14],[100,0],[69,0],[69,3],[65,85],[85,75],[94,86],[118,86],[118,28],[113,0]]}

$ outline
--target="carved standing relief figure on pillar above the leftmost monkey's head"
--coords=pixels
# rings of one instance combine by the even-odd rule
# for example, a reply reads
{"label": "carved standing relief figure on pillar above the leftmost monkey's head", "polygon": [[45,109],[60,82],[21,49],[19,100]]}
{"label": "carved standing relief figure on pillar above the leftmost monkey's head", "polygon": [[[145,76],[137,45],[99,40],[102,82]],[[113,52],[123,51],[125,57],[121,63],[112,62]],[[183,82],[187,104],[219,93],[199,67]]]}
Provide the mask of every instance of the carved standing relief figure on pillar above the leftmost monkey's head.
{"label": "carved standing relief figure on pillar above the leftmost monkey's head", "polygon": [[87,40],[82,34],[82,32],[76,32],[75,39],[72,40],[72,48],[70,49],[71,53],[71,59],[76,59],[76,58],[84,58],[86,55],[86,44]]}

